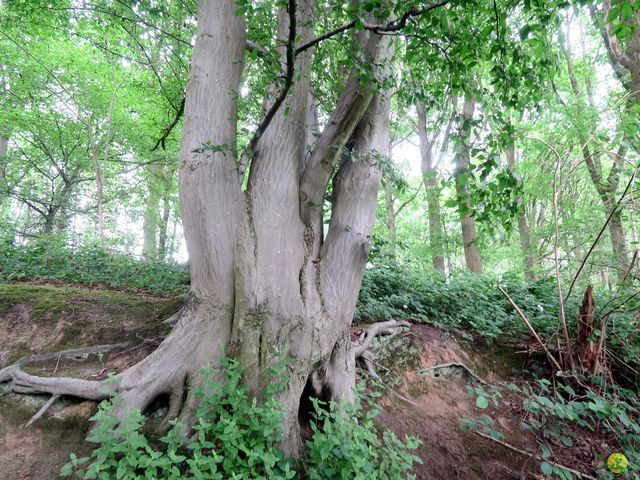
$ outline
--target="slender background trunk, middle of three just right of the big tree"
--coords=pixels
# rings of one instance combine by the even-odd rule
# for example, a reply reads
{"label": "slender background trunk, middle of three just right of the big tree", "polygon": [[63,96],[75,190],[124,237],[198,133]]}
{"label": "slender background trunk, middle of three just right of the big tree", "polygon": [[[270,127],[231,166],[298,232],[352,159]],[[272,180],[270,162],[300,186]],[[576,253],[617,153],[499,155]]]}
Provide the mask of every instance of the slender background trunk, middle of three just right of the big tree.
{"label": "slender background trunk, middle of three just right of the big tree", "polygon": [[462,227],[462,243],[467,270],[473,273],[482,273],[480,253],[478,251],[476,223],[471,216],[471,195],[469,194],[469,176],[471,147],[471,121],[476,107],[476,97],[466,95],[462,114],[458,122],[458,147],[456,152],[456,195],[460,211],[460,225]]}

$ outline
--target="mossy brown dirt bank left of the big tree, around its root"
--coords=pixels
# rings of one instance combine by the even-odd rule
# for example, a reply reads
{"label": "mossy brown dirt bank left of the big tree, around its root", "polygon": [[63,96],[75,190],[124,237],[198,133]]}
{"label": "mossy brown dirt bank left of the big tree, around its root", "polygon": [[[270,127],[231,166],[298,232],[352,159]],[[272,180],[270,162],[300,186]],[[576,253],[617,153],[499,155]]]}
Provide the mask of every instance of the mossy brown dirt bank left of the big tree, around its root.
{"label": "mossy brown dirt bank left of the big tree, around its root", "polygon": [[[39,375],[105,378],[148,355],[167,328],[162,320],[180,308],[175,299],[84,288],[0,284],[0,368],[32,354],[100,344],[126,343],[110,353],[33,363]],[[58,478],[71,452],[84,441],[95,402],[62,397],[32,426],[46,395],[0,391],[0,479]]]}

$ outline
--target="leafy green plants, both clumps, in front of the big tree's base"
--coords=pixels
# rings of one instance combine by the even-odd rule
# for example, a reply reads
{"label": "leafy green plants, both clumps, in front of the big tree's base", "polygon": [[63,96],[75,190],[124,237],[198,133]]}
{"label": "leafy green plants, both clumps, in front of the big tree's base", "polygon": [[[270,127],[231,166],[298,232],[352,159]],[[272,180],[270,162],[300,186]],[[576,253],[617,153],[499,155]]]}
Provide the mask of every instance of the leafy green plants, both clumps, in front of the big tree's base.
{"label": "leafy green plants, both clumps, in front of the big tree's base", "polygon": [[[118,398],[103,402],[89,441],[96,449],[87,457],[71,455],[63,477],[84,479],[310,479],[405,480],[411,474],[419,441],[401,441],[389,431],[377,431],[375,410],[365,410],[361,397],[353,405],[315,402],[311,438],[300,462],[279,449],[283,440],[283,405],[278,394],[286,388],[284,365],[271,371],[272,381],[258,402],[242,382],[237,361],[221,360],[224,379],[203,370],[205,385],[194,394],[200,404],[189,439],[183,425],[153,441],[142,432],[144,416],[130,411],[118,421],[112,413]],[[206,394],[205,394],[206,392]]]}

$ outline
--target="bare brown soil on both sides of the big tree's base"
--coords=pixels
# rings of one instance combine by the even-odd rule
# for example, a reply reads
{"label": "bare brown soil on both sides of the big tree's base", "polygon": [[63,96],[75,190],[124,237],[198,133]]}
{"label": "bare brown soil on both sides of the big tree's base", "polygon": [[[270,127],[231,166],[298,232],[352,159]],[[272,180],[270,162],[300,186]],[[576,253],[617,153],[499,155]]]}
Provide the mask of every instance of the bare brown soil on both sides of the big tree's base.
{"label": "bare brown soil on both sides of the big tree's base", "polygon": [[[148,355],[167,333],[162,320],[179,307],[178,300],[148,295],[0,284],[0,367],[32,353],[126,342],[112,353],[34,363],[27,369],[40,375],[106,378],[108,372],[117,373]],[[488,414],[504,442],[536,453],[535,438],[519,426],[523,412],[517,402],[505,396],[497,405],[480,409],[477,396],[470,393],[482,382],[516,381],[521,359],[423,324],[381,343],[386,343],[386,351],[376,362],[389,370],[379,369],[386,387],[377,418],[400,436],[422,439],[417,454],[423,464],[415,468],[417,478],[540,478],[539,461],[461,428],[463,419]],[[463,364],[473,374],[450,364]],[[0,392],[0,478],[57,478],[71,452],[86,454],[90,449],[84,437],[95,402],[63,397],[26,428],[46,401],[46,396]],[[555,458],[576,465],[575,458],[562,457],[560,452]]]}

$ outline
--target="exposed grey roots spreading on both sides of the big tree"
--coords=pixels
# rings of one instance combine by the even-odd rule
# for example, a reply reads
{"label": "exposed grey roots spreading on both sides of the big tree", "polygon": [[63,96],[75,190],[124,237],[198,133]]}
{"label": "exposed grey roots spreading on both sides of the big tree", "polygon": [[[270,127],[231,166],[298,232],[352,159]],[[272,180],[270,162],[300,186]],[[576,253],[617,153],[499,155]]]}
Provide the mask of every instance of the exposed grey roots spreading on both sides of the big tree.
{"label": "exposed grey roots spreading on both sides of the big tree", "polygon": [[[41,377],[26,373],[22,368],[35,362],[59,361],[61,358],[80,358],[122,350],[128,346],[127,344],[101,345],[27,356],[0,370],[0,384],[6,384],[5,393],[51,394],[51,399],[29,424],[44,415],[55,398],[61,395],[94,401],[117,395],[119,401],[114,405],[113,413],[120,419],[132,409],[148,411],[157,399],[164,398],[168,400],[168,408],[160,422],[160,430],[167,430],[170,427],[169,421],[176,418],[185,429],[189,429],[195,421],[194,412],[198,403],[190,387],[203,383],[198,370],[204,365],[213,364],[216,371],[216,360],[224,353],[230,332],[215,328],[215,322],[210,321],[211,316],[224,316],[225,313],[222,311],[212,311],[196,305],[186,307],[180,314],[181,318],[177,320],[174,331],[156,350],[109,380]],[[335,346],[324,367],[311,374],[315,393],[318,396],[328,393],[333,400],[352,400],[356,360],[364,361],[369,373],[374,378],[379,378],[373,368],[375,361],[370,350],[373,340],[380,335],[390,335],[399,327],[409,326],[408,322],[395,320],[376,323],[354,342],[351,342],[346,334]]]}

